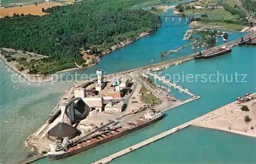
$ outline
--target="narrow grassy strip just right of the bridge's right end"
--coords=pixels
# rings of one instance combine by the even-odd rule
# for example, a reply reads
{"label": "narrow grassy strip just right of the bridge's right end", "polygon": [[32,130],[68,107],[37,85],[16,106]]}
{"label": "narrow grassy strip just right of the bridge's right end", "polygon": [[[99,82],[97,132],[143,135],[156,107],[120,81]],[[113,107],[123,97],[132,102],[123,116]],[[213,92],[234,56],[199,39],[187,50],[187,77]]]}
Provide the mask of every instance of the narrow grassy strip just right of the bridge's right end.
{"label": "narrow grassy strip just right of the bridge's right end", "polygon": [[245,26],[243,25],[236,25],[236,24],[227,24],[224,22],[205,22],[205,21],[197,21],[196,24],[198,27],[209,27],[209,28],[215,28],[215,29],[225,29],[225,30],[236,30],[236,31],[240,31],[243,28],[245,28]]}

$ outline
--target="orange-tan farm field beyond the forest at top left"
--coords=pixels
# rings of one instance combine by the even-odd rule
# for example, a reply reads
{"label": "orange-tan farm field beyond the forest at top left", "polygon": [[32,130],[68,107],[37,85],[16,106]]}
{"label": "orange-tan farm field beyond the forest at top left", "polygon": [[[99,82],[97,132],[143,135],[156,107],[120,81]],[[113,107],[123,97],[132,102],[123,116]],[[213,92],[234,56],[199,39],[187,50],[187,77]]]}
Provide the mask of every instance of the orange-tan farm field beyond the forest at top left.
{"label": "orange-tan farm field beyond the forest at top left", "polygon": [[53,6],[62,6],[61,3],[42,3],[35,5],[28,5],[23,7],[13,7],[0,10],[0,17],[12,16],[15,14],[31,14],[31,15],[46,15],[47,13],[42,12],[42,8],[50,8]]}

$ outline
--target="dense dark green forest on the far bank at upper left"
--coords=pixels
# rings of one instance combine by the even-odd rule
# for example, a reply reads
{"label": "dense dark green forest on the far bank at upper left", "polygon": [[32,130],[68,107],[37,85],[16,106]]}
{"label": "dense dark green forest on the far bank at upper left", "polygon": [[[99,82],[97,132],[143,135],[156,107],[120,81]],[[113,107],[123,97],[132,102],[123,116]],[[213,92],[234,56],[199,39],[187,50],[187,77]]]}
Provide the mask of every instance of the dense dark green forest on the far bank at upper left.
{"label": "dense dark green forest on the far bank at upper left", "polygon": [[[132,9],[138,0],[95,0],[42,9],[45,16],[13,14],[0,19],[0,47],[50,56],[32,65],[30,73],[51,74],[84,62],[81,49],[94,54],[142,32],[161,27],[161,19]],[[138,1],[139,2],[139,1]]]}

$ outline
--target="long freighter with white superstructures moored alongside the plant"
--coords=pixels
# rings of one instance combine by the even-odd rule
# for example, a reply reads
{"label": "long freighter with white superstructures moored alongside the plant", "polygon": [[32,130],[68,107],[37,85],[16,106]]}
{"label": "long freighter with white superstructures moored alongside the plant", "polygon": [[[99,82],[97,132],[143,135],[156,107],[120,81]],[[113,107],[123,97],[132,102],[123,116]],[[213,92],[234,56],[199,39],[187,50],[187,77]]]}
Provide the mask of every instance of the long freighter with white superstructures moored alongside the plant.
{"label": "long freighter with white superstructures moored alongside the plant", "polygon": [[135,119],[123,125],[108,127],[103,131],[99,131],[87,138],[79,140],[79,142],[71,142],[70,140],[63,139],[61,145],[51,146],[51,149],[48,151],[49,160],[63,159],[89,150],[115,138],[151,125],[161,120],[163,115],[163,111],[151,109],[141,118]]}

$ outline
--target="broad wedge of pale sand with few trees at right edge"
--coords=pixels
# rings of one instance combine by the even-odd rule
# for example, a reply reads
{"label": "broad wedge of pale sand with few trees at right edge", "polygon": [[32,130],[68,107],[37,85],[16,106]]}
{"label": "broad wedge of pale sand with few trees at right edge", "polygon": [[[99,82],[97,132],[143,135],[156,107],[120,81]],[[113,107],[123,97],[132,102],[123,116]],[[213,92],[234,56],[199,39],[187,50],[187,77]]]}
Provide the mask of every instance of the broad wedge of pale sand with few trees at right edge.
{"label": "broad wedge of pale sand with few trees at right edge", "polygon": [[[202,119],[193,126],[256,137],[256,93],[253,93],[250,97],[252,100],[249,102],[241,104],[238,104],[238,101],[232,102],[201,116]],[[240,111],[239,108],[242,105],[247,105],[249,111]],[[249,115],[252,120],[245,122],[245,115]]]}

